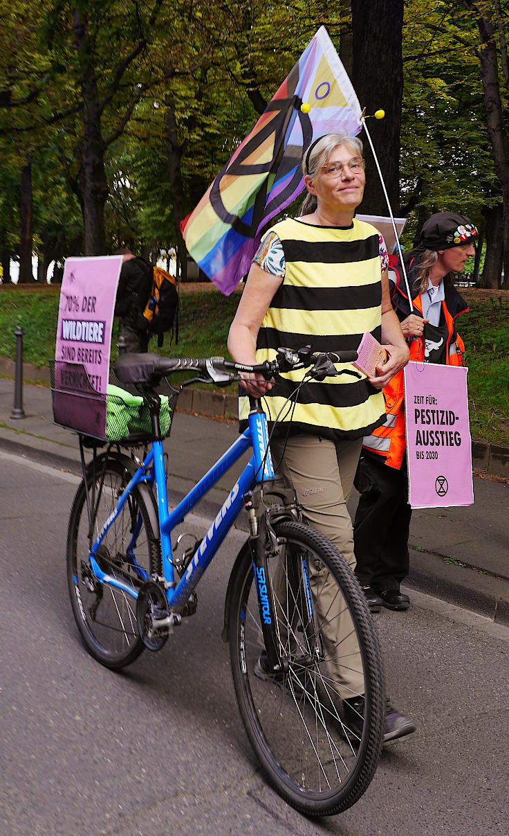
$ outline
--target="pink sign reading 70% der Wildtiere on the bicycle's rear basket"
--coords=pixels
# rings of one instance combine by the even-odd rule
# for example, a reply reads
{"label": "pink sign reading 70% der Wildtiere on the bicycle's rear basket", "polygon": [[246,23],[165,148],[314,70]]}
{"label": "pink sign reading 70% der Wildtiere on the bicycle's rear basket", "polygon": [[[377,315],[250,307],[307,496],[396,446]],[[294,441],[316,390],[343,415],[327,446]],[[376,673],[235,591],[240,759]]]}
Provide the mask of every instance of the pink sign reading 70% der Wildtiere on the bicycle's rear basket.
{"label": "pink sign reading 70% der Wildtiere on the bicycle's rear basket", "polygon": [[53,415],[57,424],[106,436],[113,310],[122,256],[68,258],[58,308]]}

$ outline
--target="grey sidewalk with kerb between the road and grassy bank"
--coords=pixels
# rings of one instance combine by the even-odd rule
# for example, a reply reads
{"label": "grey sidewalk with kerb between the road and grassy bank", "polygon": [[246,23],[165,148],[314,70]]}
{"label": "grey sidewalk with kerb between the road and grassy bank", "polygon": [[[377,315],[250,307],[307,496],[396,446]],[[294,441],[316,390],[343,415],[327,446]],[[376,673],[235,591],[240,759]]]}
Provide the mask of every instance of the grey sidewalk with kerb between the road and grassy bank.
{"label": "grey sidewalk with kerb between the road and grassy bank", "polygon": [[[0,372],[8,374],[8,370]],[[10,417],[13,392],[13,380],[0,378],[0,455],[1,451],[15,452],[80,473],[78,436],[53,424],[48,386],[23,386],[26,417],[16,420]],[[237,436],[236,422],[224,419],[224,413],[231,414],[234,409],[228,396],[188,390],[179,400],[179,409],[186,411],[174,419],[171,444],[165,442],[171,474],[169,499],[173,503],[189,491]],[[223,417],[214,420],[205,415]],[[410,594],[412,588],[419,589],[509,625],[509,479],[505,478],[509,476],[509,453],[506,448],[497,449],[501,476],[486,472],[490,453],[483,450],[484,457],[480,457],[474,448],[473,506],[413,512],[411,573],[406,585]],[[215,515],[242,466],[239,463],[221,479],[197,507],[198,513]],[[483,466],[485,472],[480,472]],[[352,513],[356,502],[355,494],[350,500]],[[243,528],[244,524],[241,515],[237,525]]]}

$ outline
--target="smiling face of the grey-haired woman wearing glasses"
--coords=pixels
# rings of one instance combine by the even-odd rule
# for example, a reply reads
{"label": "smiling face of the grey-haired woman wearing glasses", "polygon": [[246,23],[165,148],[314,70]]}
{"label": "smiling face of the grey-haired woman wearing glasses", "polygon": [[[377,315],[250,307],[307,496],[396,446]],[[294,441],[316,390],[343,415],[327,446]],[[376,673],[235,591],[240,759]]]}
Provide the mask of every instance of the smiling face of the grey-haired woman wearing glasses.
{"label": "smiling face of the grey-haired woman wearing glasses", "polygon": [[319,209],[321,205],[353,212],[364,195],[362,158],[354,145],[336,145],[314,180],[307,180],[306,186],[316,195]]}

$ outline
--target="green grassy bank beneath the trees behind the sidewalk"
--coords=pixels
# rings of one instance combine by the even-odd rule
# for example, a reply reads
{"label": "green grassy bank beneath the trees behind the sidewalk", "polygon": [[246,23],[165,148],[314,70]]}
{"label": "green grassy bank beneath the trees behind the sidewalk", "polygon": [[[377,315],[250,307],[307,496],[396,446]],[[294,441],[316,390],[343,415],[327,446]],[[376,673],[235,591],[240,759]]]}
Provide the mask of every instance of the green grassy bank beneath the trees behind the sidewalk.
{"label": "green grassy bank beneath the trees behind the sidewalk", "polygon": [[[461,288],[460,288],[461,290]],[[0,288],[0,329],[3,335],[0,353],[14,358],[14,330],[23,328],[23,360],[44,366],[55,353],[58,320],[58,288]],[[154,351],[167,357],[208,357],[214,354],[229,358],[226,349],[229,324],[239,303],[239,294],[183,291],[179,304],[179,343],[169,334],[162,349]],[[470,300],[470,313],[458,320],[458,329],[466,344],[466,364],[470,402],[471,434],[480,441],[509,444],[509,304],[506,299]],[[117,326],[113,336],[112,356],[116,355]],[[236,385],[229,387],[236,391]],[[223,390],[224,391],[224,390]]]}

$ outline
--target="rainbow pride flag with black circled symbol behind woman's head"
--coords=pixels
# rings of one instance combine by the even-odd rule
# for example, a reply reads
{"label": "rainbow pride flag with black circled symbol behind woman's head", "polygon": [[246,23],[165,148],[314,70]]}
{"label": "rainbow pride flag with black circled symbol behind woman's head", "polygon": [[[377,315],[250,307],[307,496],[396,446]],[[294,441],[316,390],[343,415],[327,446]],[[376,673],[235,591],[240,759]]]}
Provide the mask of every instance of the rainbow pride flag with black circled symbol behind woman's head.
{"label": "rainbow pride flag with black circled symbol behind woman's head", "polygon": [[189,254],[219,290],[232,293],[271,219],[304,189],[301,161],[311,142],[331,132],[356,135],[361,127],[355,90],[322,26],[181,224]]}

